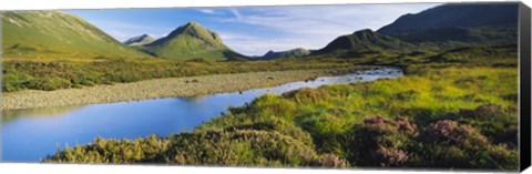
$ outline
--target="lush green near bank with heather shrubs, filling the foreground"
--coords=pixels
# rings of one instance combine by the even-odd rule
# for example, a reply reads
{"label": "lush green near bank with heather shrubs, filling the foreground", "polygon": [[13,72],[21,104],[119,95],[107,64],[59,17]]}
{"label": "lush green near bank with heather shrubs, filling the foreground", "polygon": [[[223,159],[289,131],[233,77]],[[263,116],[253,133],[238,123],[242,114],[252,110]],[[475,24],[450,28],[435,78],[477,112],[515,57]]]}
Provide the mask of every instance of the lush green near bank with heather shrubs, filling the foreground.
{"label": "lush green near bank with heather shrubs, filling the foreground", "polygon": [[267,94],[192,132],[96,139],[44,162],[516,170],[516,86],[515,68],[415,68]]}

